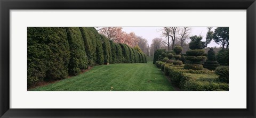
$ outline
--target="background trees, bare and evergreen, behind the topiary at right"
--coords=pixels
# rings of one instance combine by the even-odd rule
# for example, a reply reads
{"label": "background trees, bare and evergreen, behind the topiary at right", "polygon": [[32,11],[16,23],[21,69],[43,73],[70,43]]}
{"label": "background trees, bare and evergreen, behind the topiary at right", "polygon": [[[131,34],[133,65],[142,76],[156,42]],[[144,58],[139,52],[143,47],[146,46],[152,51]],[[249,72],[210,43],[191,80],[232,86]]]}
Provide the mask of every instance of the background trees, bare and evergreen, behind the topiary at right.
{"label": "background trees, bare and evergreen, behind the topiary at right", "polygon": [[[207,33],[205,37],[205,41],[201,41],[201,49],[207,49],[208,44],[211,41],[214,41],[220,48],[214,47],[215,52],[219,52],[220,49],[228,49],[229,47],[229,28],[228,27],[218,27],[214,31],[212,31],[212,27],[207,27]],[[167,49],[173,50],[175,46],[181,46],[183,48],[182,54],[184,54],[187,50],[189,50],[188,39],[191,41],[202,40],[203,36],[190,36],[191,29],[189,27],[163,27],[161,29],[162,34],[167,39],[164,40],[162,38],[154,38],[152,40],[152,44],[150,45],[150,55],[154,55],[156,49]]]}

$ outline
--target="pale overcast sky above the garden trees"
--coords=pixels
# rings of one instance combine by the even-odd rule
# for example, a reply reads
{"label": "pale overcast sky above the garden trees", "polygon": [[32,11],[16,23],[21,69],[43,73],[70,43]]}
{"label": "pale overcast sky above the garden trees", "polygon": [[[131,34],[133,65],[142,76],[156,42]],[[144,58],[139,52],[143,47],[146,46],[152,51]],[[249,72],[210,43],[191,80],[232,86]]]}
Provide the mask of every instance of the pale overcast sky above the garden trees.
{"label": "pale overcast sky above the garden trees", "polygon": [[[134,32],[135,35],[142,36],[143,38],[148,40],[148,44],[150,46],[154,38],[165,39],[165,37],[163,37],[162,35],[162,31],[160,31],[162,28],[163,27],[123,27],[123,31],[127,33]],[[202,41],[205,41],[207,27],[190,27],[190,29],[191,29],[190,36],[201,35],[203,36]],[[213,27],[212,31],[214,31],[214,29],[216,29],[216,27]],[[190,40],[188,39],[188,41]],[[214,40],[212,40],[212,42],[207,47],[214,47],[214,46],[220,47],[218,44],[214,42]]]}

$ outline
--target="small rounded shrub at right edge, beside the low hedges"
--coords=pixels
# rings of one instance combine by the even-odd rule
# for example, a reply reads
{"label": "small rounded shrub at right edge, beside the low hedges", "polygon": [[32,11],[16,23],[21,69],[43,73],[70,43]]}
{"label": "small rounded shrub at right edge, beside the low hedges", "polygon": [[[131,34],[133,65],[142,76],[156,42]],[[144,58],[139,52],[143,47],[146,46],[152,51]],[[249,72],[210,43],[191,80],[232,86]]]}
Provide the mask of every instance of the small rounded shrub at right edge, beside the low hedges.
{"label": "small rounded shrub at right edge, beside the low hedges", "polygon": [[219,75],[218,80],[221,82],[229,82],[229,72],[228,72],[228,66],[219,66],[218,68],[216,68],[216,70],[214,71],[215,74]]}

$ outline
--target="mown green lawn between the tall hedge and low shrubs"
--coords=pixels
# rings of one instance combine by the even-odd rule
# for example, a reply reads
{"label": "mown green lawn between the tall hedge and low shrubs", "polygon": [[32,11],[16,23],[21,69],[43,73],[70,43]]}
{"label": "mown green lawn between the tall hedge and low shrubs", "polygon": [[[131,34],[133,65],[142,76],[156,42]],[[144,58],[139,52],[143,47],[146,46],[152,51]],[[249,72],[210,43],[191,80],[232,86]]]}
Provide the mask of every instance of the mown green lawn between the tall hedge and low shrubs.
{"label": "mown green lawn between the tall hedge and low shrubs", "polygon": [[148,63],[98,65],[93,69],[63,79],[44,87],[31,90],[73,91],[155,91],[173,90],[161,69],[157,69],[151,58]]}

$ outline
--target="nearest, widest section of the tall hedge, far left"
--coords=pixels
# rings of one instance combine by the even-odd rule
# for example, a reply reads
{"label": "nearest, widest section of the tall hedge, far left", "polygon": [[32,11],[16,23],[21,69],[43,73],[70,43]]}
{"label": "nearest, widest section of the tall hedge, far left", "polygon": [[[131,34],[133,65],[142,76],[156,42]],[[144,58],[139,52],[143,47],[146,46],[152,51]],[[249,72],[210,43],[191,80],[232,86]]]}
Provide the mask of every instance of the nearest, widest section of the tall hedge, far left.
{"label": "nearest, widest section of the tall hedge, far left", "polygon": [[28,85],[68,76],[70,52],[65,28],[28,28]]}

